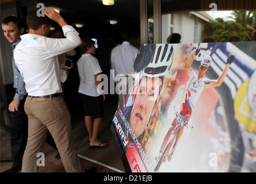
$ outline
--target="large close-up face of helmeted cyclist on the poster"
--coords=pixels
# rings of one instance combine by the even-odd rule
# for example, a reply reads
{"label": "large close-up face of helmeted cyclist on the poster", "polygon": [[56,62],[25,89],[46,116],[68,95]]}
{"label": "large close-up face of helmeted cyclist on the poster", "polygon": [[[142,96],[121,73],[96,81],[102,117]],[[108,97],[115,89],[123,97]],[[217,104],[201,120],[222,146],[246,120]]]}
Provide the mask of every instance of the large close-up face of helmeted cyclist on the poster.
{"label": "large close-up face of helmeted cyclist on the poster", "polygon": [[149,78],[144,76],[140,81],[130,116],[131,128],[136,137],[147,127],[155,102],[159,97],[161,86],[162,79],[158,77]]}

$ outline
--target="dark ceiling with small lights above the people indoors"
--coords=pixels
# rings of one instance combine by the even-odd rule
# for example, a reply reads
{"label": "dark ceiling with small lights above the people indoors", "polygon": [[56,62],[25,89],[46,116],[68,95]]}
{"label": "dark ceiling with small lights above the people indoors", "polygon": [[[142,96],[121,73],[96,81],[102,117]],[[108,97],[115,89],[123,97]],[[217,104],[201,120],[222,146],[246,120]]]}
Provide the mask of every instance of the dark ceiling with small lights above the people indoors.
{"label": "dark ceiling with small lights above the people indoors", "polygon": [[[81,36],[119,37],[121,29],[130,28],[133,33],[140,32],[139,0],[114,0],[113,6],[105,6],[102,0],[1,0],[1,10],[17,6],[25,22],[27,7],[36,3],[44,3],[60,9],[60,14],[68,24],[83,24],[77,28]],[[116,20],[116,25],[110,25],[109,20]],[[53,24],[58,28],[57,24]]]}

